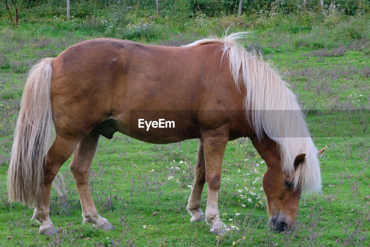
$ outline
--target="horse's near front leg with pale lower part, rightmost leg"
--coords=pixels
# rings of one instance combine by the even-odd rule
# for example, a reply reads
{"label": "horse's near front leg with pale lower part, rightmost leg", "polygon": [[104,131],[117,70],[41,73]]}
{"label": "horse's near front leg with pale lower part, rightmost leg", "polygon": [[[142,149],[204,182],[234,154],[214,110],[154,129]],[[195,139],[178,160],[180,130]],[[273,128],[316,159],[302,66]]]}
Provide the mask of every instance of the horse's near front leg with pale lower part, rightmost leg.
{"label": "horse's near front leg with pale lower part, rightmost leg", "polygon": [[[227,135],[227,136],[226,136]],[[217,133],[202,133],[203,150],[205,157],[206,182],[208,185],[208,197],[206,207],[206,223],[211,225],[211,232],[221,234],[226,225],[219,217],[218,191],[221,185],[221,165],[223,154],[228,142],[226,131]]]}

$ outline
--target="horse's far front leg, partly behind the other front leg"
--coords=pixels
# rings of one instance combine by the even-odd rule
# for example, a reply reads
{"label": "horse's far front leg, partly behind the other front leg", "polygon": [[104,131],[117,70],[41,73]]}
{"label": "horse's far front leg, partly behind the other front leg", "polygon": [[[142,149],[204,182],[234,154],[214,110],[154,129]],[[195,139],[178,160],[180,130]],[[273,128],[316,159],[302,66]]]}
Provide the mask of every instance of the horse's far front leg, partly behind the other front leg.
{"label": "horse's far front leg, partly behind the other front leg", "polygon": [[201,209],[201,198],[203,186],[206,181],[206,168],[204,161],[203,143],[199,140],[198,154],[194,167],[194,186],[191,191],[186,209],[191,214],[190,222],[203,221],[204,213]]}

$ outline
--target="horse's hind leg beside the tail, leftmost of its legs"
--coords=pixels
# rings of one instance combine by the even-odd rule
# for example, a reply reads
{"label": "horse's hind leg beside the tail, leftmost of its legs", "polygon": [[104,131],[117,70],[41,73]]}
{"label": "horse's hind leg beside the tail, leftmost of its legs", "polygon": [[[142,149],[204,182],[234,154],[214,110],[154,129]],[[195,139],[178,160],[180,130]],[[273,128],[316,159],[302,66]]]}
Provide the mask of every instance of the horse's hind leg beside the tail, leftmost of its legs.
{"label": "horse's hind leg beside the tail, leftmost of its legs", "polygon": [[80,138],[61,136],[57,134],[53,145],[51,145],[44,166],[44,195],[43,200],[36,203],[33,219],[41,223],[40,233],[51,235],[57,232],[49,217],[50,189],[51,183],[57,175],[59,168],[68,160],[75,149]]}

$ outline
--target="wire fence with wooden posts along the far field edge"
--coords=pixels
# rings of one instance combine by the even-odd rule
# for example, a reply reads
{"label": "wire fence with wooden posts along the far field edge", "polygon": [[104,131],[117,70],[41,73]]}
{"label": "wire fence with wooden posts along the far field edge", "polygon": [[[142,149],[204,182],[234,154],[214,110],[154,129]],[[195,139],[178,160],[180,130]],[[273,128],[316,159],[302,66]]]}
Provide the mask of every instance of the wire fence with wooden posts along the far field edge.
{"label": "wire fence with wooden posts along the far field edge", "polygon": [[[67,0],[13,0],[4,1],[0,7],[0,16],[9,15],[18,9],[20,17],[24,16],[60,16],[67,13]],[[275,10],[290,13],[298,10],[319,10],[320,0],[158,0],[161,15],[171,16],[182,14],[191,17],[196,13],[205,16],[226,16],[253,14],[260,11]],[[240,4],[240,7],[239,7]],[[356,14],[360,10],[369,11],[370,0],[336,0],[323,1],[323,6],[330,5],[343,10],[345,14]],[[239,10],[240,8],[240,10]],[[138,14],[158,14],[156,0],[70,0],[71,16],[107,15],[111,11],[137,11]]]}

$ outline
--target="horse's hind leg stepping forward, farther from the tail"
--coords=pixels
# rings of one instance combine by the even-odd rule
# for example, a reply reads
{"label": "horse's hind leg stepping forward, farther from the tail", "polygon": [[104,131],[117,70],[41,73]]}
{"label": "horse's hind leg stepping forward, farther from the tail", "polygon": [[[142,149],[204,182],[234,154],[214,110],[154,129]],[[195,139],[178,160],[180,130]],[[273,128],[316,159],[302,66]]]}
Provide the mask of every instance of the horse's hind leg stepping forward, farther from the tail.
{"label": "horse's hind leg stepping forward, farther from the tail", "polygon": [[71,171],[80,197],[83,223],[94,223],[94,226],[103,230],[111,230],[114,227],[98,214],[92,201],[88,178],[91,161],[98,146],[100,134],[90,133],[85,136],[73,153]]}

